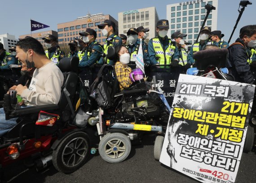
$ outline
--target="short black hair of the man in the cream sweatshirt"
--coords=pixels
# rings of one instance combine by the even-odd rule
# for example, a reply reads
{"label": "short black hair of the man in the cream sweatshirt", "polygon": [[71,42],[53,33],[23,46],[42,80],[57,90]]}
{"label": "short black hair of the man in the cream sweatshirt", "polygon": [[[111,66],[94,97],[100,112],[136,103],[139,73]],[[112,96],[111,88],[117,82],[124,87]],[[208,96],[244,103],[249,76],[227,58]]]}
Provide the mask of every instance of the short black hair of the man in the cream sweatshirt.
{"label": "short black hair of the man in the cream sweatshirt", "polygon": [[38,55],[45,55],[43,45],[35,38],[28,37],[17,42],[17,47],[20,47],[23,51],[32,49]]}

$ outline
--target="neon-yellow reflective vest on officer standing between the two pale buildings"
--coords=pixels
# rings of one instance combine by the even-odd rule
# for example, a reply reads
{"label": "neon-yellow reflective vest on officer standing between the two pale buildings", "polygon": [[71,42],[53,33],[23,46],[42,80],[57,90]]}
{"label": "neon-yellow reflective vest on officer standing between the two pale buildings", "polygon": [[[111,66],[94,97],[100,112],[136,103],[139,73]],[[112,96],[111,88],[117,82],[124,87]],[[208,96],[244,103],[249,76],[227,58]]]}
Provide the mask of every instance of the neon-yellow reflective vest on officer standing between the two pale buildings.
{"label": "neon-yellow reflective vest on officer standing between the two pale buildings", "polygon": [[[168,48],[163,51],[163,47],[159,41],[159,38],[153,38],[153,47],[155,52],[155,57],[158,57],[158,64],[170,64],[172,60],[172,55],[174,54],[175,46],[173,42],[169,39]],[[166,61],[165,61],[166,60]]]}

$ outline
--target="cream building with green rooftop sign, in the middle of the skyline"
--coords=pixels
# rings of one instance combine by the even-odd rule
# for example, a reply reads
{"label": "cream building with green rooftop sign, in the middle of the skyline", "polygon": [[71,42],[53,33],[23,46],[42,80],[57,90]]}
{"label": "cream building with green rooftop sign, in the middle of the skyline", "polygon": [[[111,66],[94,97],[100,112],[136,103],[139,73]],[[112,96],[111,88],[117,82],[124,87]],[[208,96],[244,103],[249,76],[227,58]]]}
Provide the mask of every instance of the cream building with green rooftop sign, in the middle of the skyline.
{"label": "cream building with green rooftop sign, in the middle of the skyline", "polygon": [[137,9],[118,13],[119,34],[126,34],[131,27],[143,26],[150,31],[147,32],[146,42],[156,37],[156,22],[159,21],[155,7]]}

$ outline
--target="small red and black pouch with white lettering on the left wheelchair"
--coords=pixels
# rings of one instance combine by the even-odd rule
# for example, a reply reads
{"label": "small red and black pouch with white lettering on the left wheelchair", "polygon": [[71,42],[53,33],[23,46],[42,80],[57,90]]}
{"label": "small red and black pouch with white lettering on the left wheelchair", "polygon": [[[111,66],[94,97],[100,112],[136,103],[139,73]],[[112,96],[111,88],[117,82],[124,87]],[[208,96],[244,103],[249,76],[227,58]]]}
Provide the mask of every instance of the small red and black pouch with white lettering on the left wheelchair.
{"label": "small red and black pouch with white lettering on the left wheelchair", "polygon": [[48,112],[40,111],[38,119],[35,122],[36,125],[52,127],[53,124],[59,119],[59,115],[51,114]]}

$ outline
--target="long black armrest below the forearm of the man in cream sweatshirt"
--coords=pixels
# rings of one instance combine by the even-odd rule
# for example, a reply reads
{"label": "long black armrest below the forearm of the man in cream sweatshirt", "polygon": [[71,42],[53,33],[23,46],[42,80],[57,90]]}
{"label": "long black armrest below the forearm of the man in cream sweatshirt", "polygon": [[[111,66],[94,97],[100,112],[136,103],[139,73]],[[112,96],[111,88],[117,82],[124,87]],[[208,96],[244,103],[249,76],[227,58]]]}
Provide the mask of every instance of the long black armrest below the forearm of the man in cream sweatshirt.
{"label": "long black armrest below the forearm of the man in cream sweatshirt", "polygon": [[49,104],[49,105],[42,105],[42,106],[31,106],[31,107],[25,107],[18,110],[15,110],[11,112],[12,116],[17,115],[29,115],[34,113],[39,113],[40,111],[52,111],[59,109],[59,106],[57,104]]}

